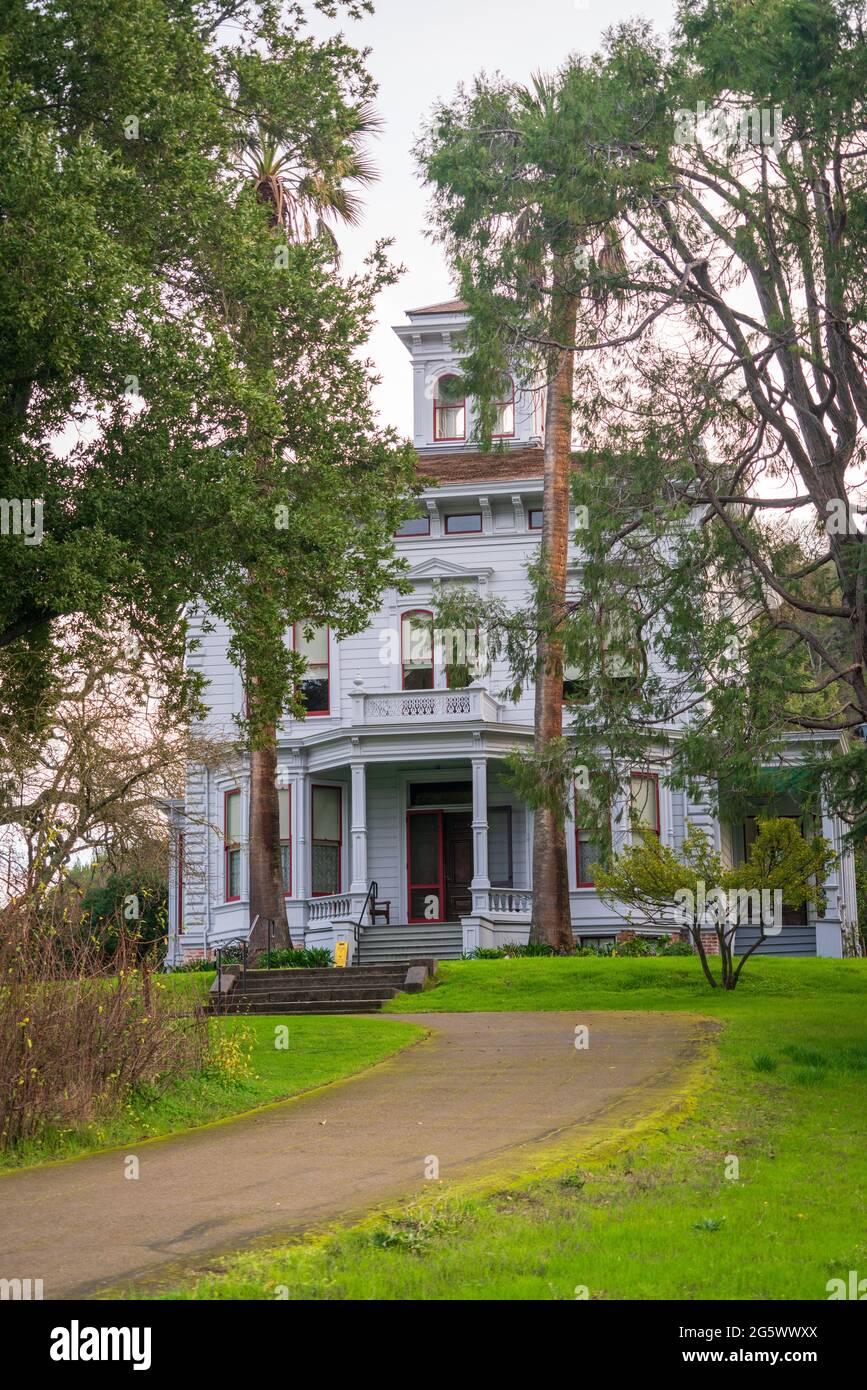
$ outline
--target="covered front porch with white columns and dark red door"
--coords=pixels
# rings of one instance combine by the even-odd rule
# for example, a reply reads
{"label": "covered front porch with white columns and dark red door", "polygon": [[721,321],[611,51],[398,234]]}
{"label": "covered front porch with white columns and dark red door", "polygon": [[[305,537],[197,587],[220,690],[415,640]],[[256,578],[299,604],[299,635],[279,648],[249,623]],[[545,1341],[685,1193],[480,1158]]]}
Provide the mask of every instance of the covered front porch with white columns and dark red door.
{"label": "covered front porch with white columns and dark red door", "polygon": [[347,763],[299,769],[288,778],[293,940],[345,940],[352,958],[361,933],[370,949],[402,929],[418,955],[460,955],[497,926],[527,930],[532,816],[503,773],[482,746],[413,760],[358,748]]}

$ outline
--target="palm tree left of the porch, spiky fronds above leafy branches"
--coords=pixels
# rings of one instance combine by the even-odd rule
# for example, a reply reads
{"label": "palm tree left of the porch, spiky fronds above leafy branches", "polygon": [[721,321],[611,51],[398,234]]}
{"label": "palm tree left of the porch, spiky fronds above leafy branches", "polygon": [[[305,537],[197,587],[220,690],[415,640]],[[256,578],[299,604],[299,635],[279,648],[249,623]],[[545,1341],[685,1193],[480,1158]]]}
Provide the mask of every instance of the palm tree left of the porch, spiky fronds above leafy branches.
{"label": "palm tree left of the porch, spiky fronds above leafy branches", "polygon": [[[361,203],[352,185],[370,183],[375,177],[361,143],[377,129],[378,118],[367,103],[360,103],[352,114],[353,124],[340,147],[329,150],[320,168],[310,168],[292,152],[281,149],[261,128],[245,145],[240,154],[243,178],[268,208],[275,236],[288,242],[327,236],[336,253],[336,238],[329,224],[353,225],[360,220]],[[253,448],[256,450],[254,441]],[[271,448],[270,442],[265,448]],[[264,481],[263,492],[267,492]],[[250,571],[253,589],[265,582],[263,575]],[[260,714],[258,680],[250,669],[246,671],[246,708],[254,730],[250,748],[250,922],[258,917],[264,926],[271,920],[274,944],[292,945],[281,862],[276,728]],[[260,930],[253,944],[258,947],[264,940],[264,930]]]}

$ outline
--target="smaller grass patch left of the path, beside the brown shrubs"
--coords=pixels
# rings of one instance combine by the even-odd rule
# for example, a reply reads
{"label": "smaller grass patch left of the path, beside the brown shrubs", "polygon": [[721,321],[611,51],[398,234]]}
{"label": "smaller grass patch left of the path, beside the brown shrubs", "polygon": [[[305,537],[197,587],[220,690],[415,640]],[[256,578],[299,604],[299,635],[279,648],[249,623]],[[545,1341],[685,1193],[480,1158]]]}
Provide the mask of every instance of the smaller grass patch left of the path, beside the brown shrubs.
{"label": "smaller grass patch left of the path, beside the brown shrubs", "polygon": [[[175,979],[197,981],[201,976]],[[286,1045],[278,1048],[276,1029],[282,1026],[288,1029],[281,1036]],[[99,1125],[50,1130],[39,1143],[1,1154],[0,1172],[161,1138],[283,1101],[374,1066],[424,1036],[411,1024],[396,1029],[379,1019],[339,1016],[229,1016],[210,1019],[208,1027],[222,1066],[208,1066],[160,1090],[138,1090],[119,1112]],[[233,1065],[238,1045],[247,1063],[242,1070]]]}

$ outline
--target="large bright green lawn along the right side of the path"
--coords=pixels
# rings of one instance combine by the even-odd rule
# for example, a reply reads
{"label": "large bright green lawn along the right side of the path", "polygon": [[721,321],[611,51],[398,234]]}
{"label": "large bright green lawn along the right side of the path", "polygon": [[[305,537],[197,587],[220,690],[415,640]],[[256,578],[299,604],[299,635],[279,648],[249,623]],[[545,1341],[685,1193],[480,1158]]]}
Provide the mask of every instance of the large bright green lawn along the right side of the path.
{"label": "large bright green lawn along the right side of the path", "polygon": [[[867,962],[454,962],[395,1011],[689,1009],[722,1022],[679,1125],[488,1195],[447,1193],[327,1238],[217,1262],[174,1298],[827,1297],[867,1272]],[[435,1020],[432,1020],[435,1023]],[[735,1172],[736,1159],[738,1176]],[[214,1264],[211,1261],[211,1264]]]}

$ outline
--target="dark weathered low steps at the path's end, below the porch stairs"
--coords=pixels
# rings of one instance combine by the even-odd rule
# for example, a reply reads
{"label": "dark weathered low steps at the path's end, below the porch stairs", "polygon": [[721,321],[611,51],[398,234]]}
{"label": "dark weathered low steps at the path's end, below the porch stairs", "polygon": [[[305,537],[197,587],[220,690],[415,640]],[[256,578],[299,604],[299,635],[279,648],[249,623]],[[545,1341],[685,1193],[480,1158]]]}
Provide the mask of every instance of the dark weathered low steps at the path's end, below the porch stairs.
{"label": "dark weathered low steps at the path's end, below the porch stairs", "polygon": [[[407,987],[406,965],[349,966],[343,970],[224,972],[224,992],[210,992],[217,1013],[377,1013]],[[420,988],[420,986],[415,986]]]}

